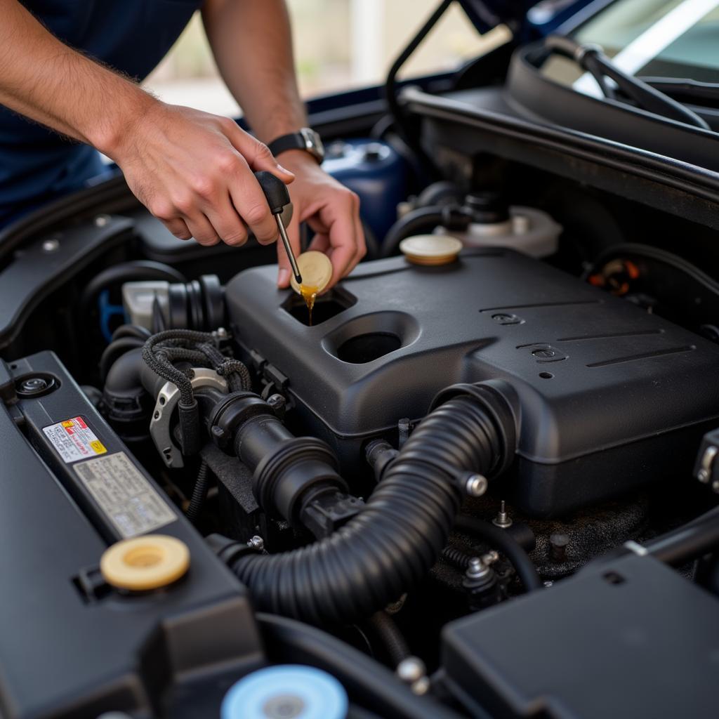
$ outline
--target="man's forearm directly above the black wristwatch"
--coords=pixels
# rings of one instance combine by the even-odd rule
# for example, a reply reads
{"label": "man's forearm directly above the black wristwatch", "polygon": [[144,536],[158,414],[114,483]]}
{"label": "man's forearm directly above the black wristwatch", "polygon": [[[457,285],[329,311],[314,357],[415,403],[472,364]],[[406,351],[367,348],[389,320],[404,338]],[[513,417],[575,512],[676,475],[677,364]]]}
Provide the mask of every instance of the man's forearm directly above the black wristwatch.
{"label": "man's forearm directly above the black wristwatch", "polygon": [[203,22],[217,65],[263,142],[306,125],[284,0],[206,0]]}

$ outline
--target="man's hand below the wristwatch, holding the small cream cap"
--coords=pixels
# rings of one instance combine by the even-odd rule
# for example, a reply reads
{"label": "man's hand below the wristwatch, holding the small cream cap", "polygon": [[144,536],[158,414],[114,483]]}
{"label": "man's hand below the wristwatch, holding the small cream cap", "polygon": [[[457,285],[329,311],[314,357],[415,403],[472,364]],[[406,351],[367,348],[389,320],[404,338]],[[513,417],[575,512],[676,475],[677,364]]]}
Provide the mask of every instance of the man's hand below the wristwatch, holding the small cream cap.
{"label": "man's hand below the wristwatch, holding the small cream cap", "polygon": [[[324,252],[332,262],[333,273],[327,288],[349,275],[367,252],[365,233],[359,221],[359,198],[320,168],[303,150],[283,152],[282,162],[295,175],[290,187],[293,203],[292,222],[288,228],[290,244],[296,255],[300,251],[299,225],[306,222],[315,236],[309,249]],[[278,286],[290,283],[290,262],[285,248],[278,242]]]}

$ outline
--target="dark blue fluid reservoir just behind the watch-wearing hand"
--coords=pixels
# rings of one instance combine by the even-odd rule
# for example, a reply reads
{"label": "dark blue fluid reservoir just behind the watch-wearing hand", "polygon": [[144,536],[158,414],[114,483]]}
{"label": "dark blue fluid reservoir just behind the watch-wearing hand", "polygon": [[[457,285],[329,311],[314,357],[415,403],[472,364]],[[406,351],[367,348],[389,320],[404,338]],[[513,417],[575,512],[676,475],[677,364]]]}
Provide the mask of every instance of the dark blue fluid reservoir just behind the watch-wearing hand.
{"label": "dark blue fluid reservoir just behind the watch-wearing hand", "polygon": [[407,168],[386,142],[348,139],[330,142],[322,168],[359,195],[362,219],[377,242],[397,219],[398,203],[407,198]]}

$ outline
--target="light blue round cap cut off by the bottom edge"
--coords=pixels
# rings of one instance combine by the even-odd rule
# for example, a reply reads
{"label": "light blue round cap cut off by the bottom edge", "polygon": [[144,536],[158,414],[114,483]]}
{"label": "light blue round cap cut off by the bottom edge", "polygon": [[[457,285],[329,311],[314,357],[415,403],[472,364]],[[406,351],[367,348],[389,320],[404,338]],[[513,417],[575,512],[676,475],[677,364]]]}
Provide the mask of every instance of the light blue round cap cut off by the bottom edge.
{"label": "light blue round cap cut off by the bottom edge", "polygon": [[331,674],[303,664],[258,669],[222,701],[221,719],[346,719],[347,692]]}

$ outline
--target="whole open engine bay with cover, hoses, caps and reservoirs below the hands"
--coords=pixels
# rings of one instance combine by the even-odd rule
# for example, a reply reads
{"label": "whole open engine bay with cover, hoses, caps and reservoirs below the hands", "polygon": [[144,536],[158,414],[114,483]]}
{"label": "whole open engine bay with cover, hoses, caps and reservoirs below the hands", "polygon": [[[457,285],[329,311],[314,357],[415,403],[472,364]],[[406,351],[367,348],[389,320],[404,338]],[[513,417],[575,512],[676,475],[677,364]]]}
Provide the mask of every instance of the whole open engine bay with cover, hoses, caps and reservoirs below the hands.
{"label": "whole open engine bay with cover, hoses, caps and reservoirs below the hands", "polygon": [[461,114],[434,183],[330,150],[377,237],[311,324],[272,248],[122,183],[4,240],[4,715],[216,716],[262,672],[328,719],[712,715],[715,229],[462,155]]}

